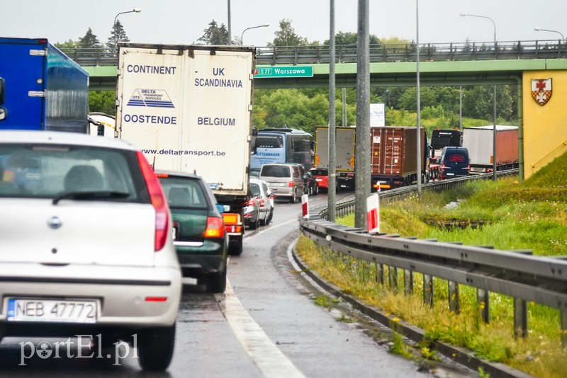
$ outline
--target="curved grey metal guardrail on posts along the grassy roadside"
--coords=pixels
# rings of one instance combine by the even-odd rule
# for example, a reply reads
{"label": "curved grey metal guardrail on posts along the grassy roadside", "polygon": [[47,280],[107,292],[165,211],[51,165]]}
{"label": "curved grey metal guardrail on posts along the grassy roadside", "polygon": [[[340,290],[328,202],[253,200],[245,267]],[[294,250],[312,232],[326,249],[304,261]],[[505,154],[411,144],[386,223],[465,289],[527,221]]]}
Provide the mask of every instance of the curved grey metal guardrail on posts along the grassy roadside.
{"label": "curved grey metal guardrail on posts along the grassy roadside", "polygon": [[[517,173],[517,169],[500,175]],[[423,185],[440,190],[470,180],[491,178],[492,173],[467,178],[437,181]],[[381,201],[398,200],[415,193],[414,188],[388,190]],[[413,273],[422,273],[424,302],[433,304],[433,277],[449,281],[449,309],[459,311],[459,284],[476,287],[479,308],[489,321],[489,292],[514,298],[514,332],[527,336],[527,302],[543,304],[561,311],[561,341],[567,348],[567,256],[532,256],[531,251],[498,251],[479,246],[462,246],[439,241],[405,238],[398,235],[369,234],[364,230],[327,222],[326,205],[309,211],[309,219],[299,220],[305,236],[320,246],[376,264],[376,280],[385,282],[388,266],[390,286],[397,285],[398,269],[403,270],[404,290],[412,292]],[[354,199],[337,204],[339,210],[354,211]],[[352,209],[352,210],[351,210]],[[395,287],[397,289],[397,287]],[[427,288],[427,290],[425,290]],[[482,304],[482,305],[481,305]]]}

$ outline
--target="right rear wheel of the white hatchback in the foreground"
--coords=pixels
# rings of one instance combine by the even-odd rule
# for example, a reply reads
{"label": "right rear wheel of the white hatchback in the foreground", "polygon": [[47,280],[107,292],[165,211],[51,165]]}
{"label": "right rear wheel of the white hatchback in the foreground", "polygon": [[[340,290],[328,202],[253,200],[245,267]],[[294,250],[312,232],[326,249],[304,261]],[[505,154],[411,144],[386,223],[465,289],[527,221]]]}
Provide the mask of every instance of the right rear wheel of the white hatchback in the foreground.
{"label": "right rear wheel of the white hatchback in the foreground", "polygon": [[138,362],[142,370],[163,372],[172,362],[175,324],[141,330],[137,336]]}

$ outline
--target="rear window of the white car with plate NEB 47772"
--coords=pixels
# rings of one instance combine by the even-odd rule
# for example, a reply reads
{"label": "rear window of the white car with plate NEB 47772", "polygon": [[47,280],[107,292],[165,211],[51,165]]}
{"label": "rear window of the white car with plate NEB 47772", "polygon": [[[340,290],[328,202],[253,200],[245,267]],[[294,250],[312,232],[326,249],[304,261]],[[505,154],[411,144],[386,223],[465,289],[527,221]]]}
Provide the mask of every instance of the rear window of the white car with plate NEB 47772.
{"label": "rear window of the white car with plate NEB 47772", "polygon": [[55,144],[0,144],[0,197],[115,193],[96,200],[148,202],[135,151]]}

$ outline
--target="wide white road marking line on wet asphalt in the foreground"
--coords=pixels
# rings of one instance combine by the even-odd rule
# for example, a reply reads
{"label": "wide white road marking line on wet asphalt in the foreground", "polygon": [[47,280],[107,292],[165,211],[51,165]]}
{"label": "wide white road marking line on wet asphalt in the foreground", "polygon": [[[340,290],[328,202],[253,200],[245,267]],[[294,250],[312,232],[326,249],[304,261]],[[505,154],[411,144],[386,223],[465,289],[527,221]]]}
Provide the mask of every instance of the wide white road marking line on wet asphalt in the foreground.
{"label": "wide white road marking line on wet asphalt in the foreground", "polygon": [[240,300],[232,292],[227,279],[224,294],[215,294],[221,311],[230,324],[232,331],[246,350],[250,359],[266,378],[305,378],[302,372],[281,353],[266,336],[254,319],[242,307]]}

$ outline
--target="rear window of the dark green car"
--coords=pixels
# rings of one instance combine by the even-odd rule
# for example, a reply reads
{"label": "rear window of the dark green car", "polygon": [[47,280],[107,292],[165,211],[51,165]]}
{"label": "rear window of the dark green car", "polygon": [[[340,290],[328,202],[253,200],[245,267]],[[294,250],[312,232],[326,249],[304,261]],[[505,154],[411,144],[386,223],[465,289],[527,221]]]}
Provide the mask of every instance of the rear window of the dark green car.
{"label": "rear window of the dark green car", "polygon": [[159,178],[162,183],[169,207],[187,207],[191,209],[208,209],[206,188],[197,178],[169,176]]}

